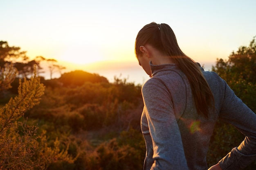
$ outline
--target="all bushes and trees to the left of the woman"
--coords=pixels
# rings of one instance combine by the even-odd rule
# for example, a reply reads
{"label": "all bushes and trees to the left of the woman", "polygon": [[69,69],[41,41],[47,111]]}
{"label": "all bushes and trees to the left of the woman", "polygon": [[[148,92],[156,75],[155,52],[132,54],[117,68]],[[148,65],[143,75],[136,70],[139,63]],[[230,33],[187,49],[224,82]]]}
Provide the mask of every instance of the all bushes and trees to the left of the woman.
{"label": "all bushes and trees to the left of the woman", "polygon": [[[27,61],[26,52],[7,45],[1,44],[1,61],[13,59],[20,77],[38,71],[40,61],[46,61],[40,56]],[[21,63],[14,60],[22,56]],[[56,66],[49,66],[52,74]],[[58,79],[35,74],[23,81],[14,79],[14,71],[5,66],[1,73],[0,169],[142,168],[141,87],[119,78],[109,83],[105,77],[79,70]]]}

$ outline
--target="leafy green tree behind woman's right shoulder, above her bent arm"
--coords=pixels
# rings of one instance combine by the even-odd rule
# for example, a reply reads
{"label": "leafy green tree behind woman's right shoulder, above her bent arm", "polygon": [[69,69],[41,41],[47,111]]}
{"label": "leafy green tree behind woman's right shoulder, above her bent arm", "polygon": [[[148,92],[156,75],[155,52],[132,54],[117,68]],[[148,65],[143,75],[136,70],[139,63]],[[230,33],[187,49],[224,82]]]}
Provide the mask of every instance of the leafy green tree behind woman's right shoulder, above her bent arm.
{"label": "leafy green tree behind woman's right shoulder, above her bent arm", "polygon": [[212,68],[219,74],[236,95],[245,104],[256,111],[256,41],[253,37],[249,46],[240,46],[236,52],[229,55],[229,59],[217,59],[216,66]]}

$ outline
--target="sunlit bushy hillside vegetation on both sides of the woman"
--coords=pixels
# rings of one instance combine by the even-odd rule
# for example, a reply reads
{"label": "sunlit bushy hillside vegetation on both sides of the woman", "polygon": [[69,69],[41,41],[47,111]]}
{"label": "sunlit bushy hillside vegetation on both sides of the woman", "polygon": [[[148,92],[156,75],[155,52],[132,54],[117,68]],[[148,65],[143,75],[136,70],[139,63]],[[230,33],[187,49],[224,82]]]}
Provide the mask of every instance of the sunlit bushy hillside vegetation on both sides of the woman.
{"label": "sunlit bushy hillside vegetation on both sides of the woman", "polygon": [[[0,169],[143,168],[141,85],[117,77],[109,83],[81,70],[45,80],[33,68],[32,76],[26,78],[7,61],[1,63]],[[255,38],[249,46],[232,52],[227,61],[217,59],[212,70],[256,112]],[[207,157],[209,166],[243,138],[234,127],[218,121]],[[254,162],[247,170],[255,168]]]}

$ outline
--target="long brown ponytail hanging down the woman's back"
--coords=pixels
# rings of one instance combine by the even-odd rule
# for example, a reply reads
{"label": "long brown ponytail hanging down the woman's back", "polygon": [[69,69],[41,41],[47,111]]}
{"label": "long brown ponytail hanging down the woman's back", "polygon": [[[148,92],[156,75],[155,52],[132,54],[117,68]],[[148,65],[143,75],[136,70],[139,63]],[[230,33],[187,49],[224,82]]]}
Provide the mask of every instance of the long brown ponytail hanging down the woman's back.
{"label": "long brown ponytail hanging down the woman's back", "polygon": [[164,51],[169,56],[173,56],[173,60],[189,80],[198,113],[208,117],[209,107],[214,108],[214,98],[202,71],[195,61],[180,50],[171,27],[167,24],[160,24],[159,28]]}

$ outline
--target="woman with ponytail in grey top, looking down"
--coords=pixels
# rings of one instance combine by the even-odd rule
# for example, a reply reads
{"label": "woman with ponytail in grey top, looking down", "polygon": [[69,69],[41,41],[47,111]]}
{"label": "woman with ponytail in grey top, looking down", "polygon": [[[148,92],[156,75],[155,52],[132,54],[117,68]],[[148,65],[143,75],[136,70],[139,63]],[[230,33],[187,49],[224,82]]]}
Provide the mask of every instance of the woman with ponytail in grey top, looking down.
{"label": "woman with ponytail in grey top, looking down", "polygon": [[210,170],[237,170],[256,159],[256,115],[214,72],[205,72],[179,48],[167,24],[144,26],[135,41],[139,65],[151,77],[142,86],[144,170],[207,170],[218,119],[246,135]]}

